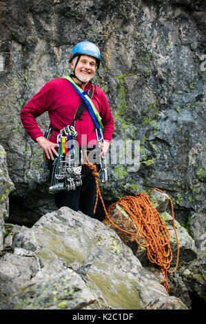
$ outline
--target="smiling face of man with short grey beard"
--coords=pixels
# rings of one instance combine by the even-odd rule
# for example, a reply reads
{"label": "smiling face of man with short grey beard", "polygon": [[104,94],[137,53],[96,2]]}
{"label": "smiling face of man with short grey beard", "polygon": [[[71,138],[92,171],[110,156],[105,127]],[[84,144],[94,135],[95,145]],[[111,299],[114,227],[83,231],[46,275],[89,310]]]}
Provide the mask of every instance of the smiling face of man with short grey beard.
{"label": "smiling face of man with short grey beard", "polygon": [[[76,59],[71,62],[71,68],[74,70]],[[81,55],[79,62],[76,65],[75,74],[82,82],[89,82],[94,73],[96,72],[96,59],[94,57],[88,57],[87,55]]]}

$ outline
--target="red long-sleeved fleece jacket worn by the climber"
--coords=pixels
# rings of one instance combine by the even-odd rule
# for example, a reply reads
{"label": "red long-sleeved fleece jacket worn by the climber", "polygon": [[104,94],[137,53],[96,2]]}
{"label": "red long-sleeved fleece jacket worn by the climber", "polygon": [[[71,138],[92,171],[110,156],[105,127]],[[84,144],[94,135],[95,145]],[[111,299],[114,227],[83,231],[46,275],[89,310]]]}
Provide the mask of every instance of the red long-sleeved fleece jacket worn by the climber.
{"label": "red long-sleeved fleece jacket worn by the climber", "polygon": [[[110,107],[103,90],[94,85],[93,87],[92,102],[102,119],[104,139],[110,142],[114,130],[114,120]],[[90,88],[91,83],[89,82],[85,87],[85,91],[90,90]],[[34,141],[37,137],[43,136],[35,119],[45,111],[48,111],[51,127],[54,130],[61,130],[72,123],[74,114],[80,103],[81,97],[79,97],[79,94],[76,93],[76,90],[74,90],[68,80],[60,78],[46,83],[21,110],[21,121],[25,131],[28,132]],[[78,132],[77,141],[80,147],[85,145],[85,142],[82,143],[84,137],[86,138],[87,145],[92,146],[96,144],[94,123],[87,109],[81,117],[82,120],[77,119],[75,125],[75,129]],[[54,134],[57,135],[58,132],[55,131]],[[56,143],[54,134],[51,135],[50,141]]]}

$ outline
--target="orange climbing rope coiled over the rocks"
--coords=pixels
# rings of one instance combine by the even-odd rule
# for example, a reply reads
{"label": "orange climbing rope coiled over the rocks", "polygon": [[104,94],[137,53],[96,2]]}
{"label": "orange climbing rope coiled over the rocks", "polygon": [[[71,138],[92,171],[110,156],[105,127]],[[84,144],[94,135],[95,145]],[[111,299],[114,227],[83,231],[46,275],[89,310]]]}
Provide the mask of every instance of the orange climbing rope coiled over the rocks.
{"label": "orange climbing rope coiled over the rocks", "polygon": [[[99,190],[99,184],[98,184],[99,173],[96,172],[96,166],[90,163],[88,160],[86,165],[93,170],[94,178],[96,181],[96,202],[94,205],[94,214],[96,212],[96,205],[98,199],[100,198],[103,204],[105,215],[107,216],[107,219],[110,220],[112,225],[114,225],[114,227],[121,230],[122,232],[125,232],[126,234],[134,235],[136,243],[138,243],[138,245],[141,245],[142,247],[147,248],[148,259],[150,260],[150,262],[159,265],[163,277],[165,279],[164,286],[167,292],[169,292],[167,274],[176,271],[178,267],[178,257],[179,257],[179,244],[178,244],[178,237],[176,234],[176,227],[174,223],[174,208],[172,204],[172,199],[169,197],[169,201],[172,207],[173,227],[176,236],[178,252],[177,252],[177,259],[176,259],[176,267],[174,268],[174,270],[169,271],[169,265],[172,261],[172,250],[169,243],[169,230],[167,229],[161,216],[158,214],[156,208],[152,205],[151,201],[148,199],[147,195],[143,193],[143,194],[136,194],[136,196],[125,196],[119,201],[117,201],[116,203],[110,205],[110,207],[106,210],[105,204],[103,202],[103,198],[101,196],[101,192]],[[158,190],[159,192],[162,192],[164,194],[163,191],[157,188],[152,188],[151,190]],[[121,229],[116,224],[114,224],[112,219],[110,219],[109,214],[112,213],[112,210],[114,210],[116,204],[121,205],[124,208],[124,210],[127,212],[127,214],[130,216],[131,221],[136,226],[137,229],[136,233],[128,232],[126,230]],[[144,239],[145,245],[138,242],[137,239],[138,237]]]}

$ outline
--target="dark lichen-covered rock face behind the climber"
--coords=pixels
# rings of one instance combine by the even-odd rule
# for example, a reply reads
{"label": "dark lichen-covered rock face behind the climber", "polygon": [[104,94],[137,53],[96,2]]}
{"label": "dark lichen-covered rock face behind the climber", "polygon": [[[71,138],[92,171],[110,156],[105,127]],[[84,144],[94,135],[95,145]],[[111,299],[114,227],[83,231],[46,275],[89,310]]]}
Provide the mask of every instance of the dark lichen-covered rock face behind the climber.
{"label": "dark lichen-covered rock face behind the climber", "polygon": [[[0,141],[16,188],[10,195],[11,222],[32,225],[55,208],[41,177],[42,152],[25,134],[19,112],[45,82],[68,74],[70,50],[87,39],[101,50],[95,82],[105,91],[115,121],[105,201],[148,187],[163,189],[172,196],[177,220],[201,249],[204,17],[200,0],[112,0],[109,6],[100,0],[1,1]],[[44,131],[48,115],[37,122]],[[128,141],[136,143],[139,163],[138,154],[135,159],[134,152],[125,153]],[[118,145],[120,163],[114,161]]]}

